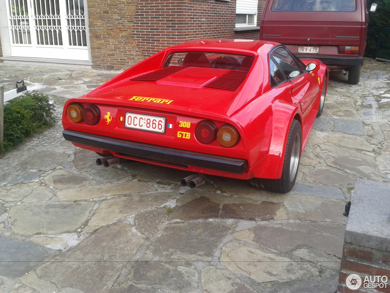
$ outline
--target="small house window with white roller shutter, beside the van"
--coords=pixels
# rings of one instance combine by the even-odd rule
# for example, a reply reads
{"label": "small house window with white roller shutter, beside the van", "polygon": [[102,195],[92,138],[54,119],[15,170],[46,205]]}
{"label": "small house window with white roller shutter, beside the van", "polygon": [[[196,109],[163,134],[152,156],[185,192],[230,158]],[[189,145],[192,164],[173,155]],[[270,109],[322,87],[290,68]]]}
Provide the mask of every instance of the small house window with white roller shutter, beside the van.
{"label": "small house window with white roller shutter, beside the van", "polygon": [[255,27],[258,0],[237,0],[236,27]]}

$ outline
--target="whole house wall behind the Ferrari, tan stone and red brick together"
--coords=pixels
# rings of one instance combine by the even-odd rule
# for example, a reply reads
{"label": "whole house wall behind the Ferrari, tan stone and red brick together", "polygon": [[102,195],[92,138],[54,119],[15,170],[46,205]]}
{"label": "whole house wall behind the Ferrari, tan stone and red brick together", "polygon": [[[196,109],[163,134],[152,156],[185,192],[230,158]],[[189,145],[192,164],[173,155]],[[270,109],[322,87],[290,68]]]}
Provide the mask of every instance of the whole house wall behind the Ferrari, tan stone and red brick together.
{"label": "whole house wall behind the Ferrari, tan stone and red brick together", "polygon": [[[259,39],[234,31],[236,0],[88,0],[94,68],[121,70],[169,46],[199,38]],[[265,0],[259,0],[260,25]]]}

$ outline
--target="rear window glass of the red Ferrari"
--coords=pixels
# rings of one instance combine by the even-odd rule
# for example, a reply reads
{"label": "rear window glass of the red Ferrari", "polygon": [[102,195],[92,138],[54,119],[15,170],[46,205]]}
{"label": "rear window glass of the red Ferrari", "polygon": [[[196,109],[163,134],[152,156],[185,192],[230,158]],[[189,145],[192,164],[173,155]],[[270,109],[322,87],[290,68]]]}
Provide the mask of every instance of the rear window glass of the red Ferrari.
{"label": "rear window glass of the red Ferrari", "polygon": [[254,57],[216,52],[175,52],[168,55],[163,67],[186,66],[249,71]]}

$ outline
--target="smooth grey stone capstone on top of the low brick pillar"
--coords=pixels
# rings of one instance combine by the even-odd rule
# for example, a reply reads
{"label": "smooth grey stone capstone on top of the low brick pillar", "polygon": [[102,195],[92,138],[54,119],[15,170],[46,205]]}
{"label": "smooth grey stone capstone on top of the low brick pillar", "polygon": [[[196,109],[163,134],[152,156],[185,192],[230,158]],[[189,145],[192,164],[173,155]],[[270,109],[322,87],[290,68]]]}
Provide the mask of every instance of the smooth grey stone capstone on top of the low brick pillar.
{"label": "smooth grey stone capstone on top of the low brick pillar", "polygon": [[356,180],[345,241],[390,250],[390,184]]}

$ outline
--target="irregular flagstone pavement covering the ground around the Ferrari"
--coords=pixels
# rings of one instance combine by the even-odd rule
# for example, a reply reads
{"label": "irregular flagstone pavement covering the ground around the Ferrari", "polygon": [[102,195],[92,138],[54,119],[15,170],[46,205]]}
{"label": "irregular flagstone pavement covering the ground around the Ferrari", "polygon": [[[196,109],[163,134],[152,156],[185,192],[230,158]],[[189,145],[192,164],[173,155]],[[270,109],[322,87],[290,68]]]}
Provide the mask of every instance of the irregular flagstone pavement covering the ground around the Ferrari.
{"label": "irregular flagstone pavement covering the ground around the Ferrari", "polygon": [[[57,123],[0,160],[0,293],[333,293],[356,179],[390,182],[390,64],[331,73],[287,194],[145,163],[97,166],[62,137],[67,98],[117,71],[0,63],[57,101]],[[370,195],[367,195],[370,200]]]}

